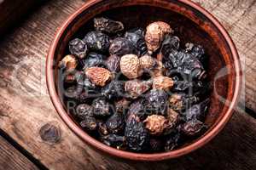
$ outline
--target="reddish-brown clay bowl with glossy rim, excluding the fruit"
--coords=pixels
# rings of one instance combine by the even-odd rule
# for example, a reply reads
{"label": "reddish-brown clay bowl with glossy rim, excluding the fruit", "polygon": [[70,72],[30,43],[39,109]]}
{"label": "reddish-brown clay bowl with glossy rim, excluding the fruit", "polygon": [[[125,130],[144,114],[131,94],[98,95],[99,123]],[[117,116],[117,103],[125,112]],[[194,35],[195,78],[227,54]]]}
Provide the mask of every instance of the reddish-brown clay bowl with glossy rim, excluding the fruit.
{"label": "reddish-brown clay bowl with glossy rim, excluding the fruit", "polygon": [[[208,77],[213,84],[211,105],[206,119],[210,128],[206,133],[177,150],[139,154],[108,147],[91,138],[79,127],[73,117],[67,113],[62,96],[59,94],[60,75],[56,63],[67,54],[68,41],[73,37],[82,37],[92,29],[92,19],[97,15],[120,20],[125,24],[125,28],[135,26],[145,28],[152,21],[166,21],[176,31],[181,42],[197,42],[205,47],[207,54],[210,55]],[[136,161],[160,161],[175,158],[207,144],[230,120],[241,89],[240,60],[230,36],[212,14],[187,0],[86,1],[58,29],[49,48],[46,71],[49,96],[67,126],[92,148],[108,153],[107,155]]]}

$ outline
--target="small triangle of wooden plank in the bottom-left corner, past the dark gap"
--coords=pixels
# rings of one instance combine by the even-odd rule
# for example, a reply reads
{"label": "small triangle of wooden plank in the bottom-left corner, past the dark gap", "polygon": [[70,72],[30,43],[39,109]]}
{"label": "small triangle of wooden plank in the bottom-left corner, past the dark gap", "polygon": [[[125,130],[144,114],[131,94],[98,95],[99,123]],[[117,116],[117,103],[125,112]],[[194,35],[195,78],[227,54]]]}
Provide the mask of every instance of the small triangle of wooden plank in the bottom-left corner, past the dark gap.
{"label": "small triangle of wooden plank in the bottom-left corner, past the dark gap", "polygon": [[31,161],[23,156],[19,150],[0,136],[0,169],[38,169]]}

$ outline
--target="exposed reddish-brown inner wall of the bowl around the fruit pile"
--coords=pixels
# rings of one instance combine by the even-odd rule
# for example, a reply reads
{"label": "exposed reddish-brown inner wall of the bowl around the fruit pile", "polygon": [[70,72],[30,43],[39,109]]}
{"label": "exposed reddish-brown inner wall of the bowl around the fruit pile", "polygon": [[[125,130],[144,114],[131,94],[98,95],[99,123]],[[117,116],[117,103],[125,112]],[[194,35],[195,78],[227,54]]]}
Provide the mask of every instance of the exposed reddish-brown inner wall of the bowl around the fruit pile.
{"label": "exposed reddish-brown inner wall of the bowl around the fruit pile", "polygon": [[[87,31],[93,30],[92,19],[96,16],[120,20],[124,23],[125,29],[145,28],[153,21],[162,20],[172,26],[175,35],[181,39],[182,47],[185,42],[201,44],[209,56],[207,73],[213,87],[206,118],[206,123],[210,128],[204,135],[207,135],[218,124],[228,110],[229,106],[226,104],[233,98],[236,73],[230,48],[211,20],[195,8],[177,1],[112,0],[108,3],[104,1],[95,3],[75,15],[73,20],[68,21],[67,28],[57,42],[54,63],[58,63],[65,54],[68,54],[68,41],[74,37],[83,38]],[[60,74],[57,67],[54,68],[55,89],[56,92],[60,92]],[[58,94],[63,104],[63,98],[60,93]],[[63,105],[63,108],[66,106]]]}

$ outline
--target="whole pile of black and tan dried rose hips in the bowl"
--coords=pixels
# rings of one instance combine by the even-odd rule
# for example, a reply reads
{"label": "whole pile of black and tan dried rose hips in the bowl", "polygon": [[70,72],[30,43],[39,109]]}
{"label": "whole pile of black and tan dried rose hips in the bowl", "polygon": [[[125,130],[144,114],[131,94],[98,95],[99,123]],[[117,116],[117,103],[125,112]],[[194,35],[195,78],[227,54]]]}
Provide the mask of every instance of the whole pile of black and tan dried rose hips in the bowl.
{"label": "whole pile of black and tan dried rose hips in the bowl", "polygon": [[124,31],[106,18],[94,26],[69,42],[59,63],[67,110],[79,125],[104,144],[136,152],[173,150],[198,137],[209,104],[204,48],[180,48],[162,21],[146,31]]}

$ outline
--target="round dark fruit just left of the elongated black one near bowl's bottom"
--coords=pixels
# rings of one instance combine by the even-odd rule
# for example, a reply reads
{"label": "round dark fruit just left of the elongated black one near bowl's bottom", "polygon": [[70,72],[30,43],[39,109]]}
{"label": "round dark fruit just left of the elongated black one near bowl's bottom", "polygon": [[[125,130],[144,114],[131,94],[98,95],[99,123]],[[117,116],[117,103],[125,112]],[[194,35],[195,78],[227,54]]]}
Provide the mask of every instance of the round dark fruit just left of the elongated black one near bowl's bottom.
{"label": "round dark fruit just left of the elongated black one near bowl's bottom", "polygon": [[123,113],[114,113],[106,122],[108,132],[118,134],[122,133],[125,128],[125,117]]}

